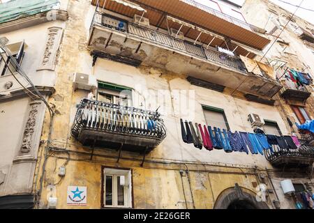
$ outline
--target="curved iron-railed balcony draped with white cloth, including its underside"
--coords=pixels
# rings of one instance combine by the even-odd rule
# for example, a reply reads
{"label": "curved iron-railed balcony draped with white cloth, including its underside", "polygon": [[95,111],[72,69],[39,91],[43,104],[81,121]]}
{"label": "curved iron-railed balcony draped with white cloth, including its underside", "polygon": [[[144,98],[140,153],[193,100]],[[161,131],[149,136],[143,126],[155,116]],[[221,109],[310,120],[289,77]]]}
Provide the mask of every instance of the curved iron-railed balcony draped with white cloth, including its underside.
{"label": "curved iron-railed balcony draped with white cloth, including its underside", "polygon": [[72,135],[84,146],[149,153],[166,137],[158,112],[83,99]]}

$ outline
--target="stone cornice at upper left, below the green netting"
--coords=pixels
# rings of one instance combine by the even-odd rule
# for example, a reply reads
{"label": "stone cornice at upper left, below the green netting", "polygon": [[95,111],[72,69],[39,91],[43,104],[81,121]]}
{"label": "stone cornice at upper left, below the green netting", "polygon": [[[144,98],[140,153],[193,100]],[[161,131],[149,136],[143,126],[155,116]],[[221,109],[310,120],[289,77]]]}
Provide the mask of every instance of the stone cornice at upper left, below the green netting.
{"label": "stone cornice at upper left, below the green netting", "polygon": [[53,20],[66,21],[67,19],[68,12],[66,10],[50,10],[45,13],[38,13],[36,15],[30,15],[28,17],[0,24],[0,33],[8,33],[10,31],[36,26],[45,22],[51,22]]}

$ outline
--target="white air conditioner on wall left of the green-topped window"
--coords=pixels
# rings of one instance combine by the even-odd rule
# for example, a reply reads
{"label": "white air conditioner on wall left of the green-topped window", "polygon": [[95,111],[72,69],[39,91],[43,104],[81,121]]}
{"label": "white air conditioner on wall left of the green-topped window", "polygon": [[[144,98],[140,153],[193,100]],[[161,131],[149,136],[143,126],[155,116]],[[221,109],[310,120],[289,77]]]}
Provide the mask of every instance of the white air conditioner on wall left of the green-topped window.
{"label": "white air conditioner on wall left of the green-topped window", "polygon": [[97,79],[95,76],[75,72],[73,75],[73,87],[74,89],[82,89],[91,91],[97,89]]}

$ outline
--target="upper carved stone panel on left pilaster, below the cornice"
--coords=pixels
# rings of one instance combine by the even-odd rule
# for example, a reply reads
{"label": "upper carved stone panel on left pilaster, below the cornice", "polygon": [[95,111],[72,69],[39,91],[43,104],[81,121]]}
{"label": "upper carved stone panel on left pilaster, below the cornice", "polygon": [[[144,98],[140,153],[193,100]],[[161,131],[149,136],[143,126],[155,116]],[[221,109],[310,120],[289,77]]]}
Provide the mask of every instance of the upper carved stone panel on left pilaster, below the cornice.
{"label": "upper carved stone panel on left pilaster, below the cornice", "polygon": [[47,43],[43,52],[43,59],[37,70],[54,70],[61,37],[62,28],[55,26],[48,28]]}

